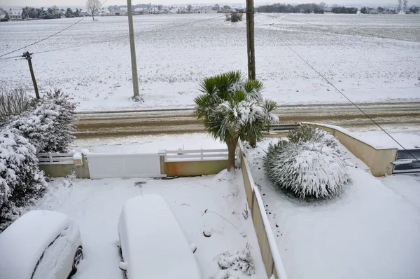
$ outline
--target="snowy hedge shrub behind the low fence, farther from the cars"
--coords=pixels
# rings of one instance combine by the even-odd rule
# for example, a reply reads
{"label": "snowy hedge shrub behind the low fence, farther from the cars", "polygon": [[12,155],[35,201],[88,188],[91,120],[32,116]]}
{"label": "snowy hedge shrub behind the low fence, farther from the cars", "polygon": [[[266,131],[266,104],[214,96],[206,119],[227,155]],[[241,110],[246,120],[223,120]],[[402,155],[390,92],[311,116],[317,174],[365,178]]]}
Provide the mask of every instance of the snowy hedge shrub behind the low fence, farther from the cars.
{"label": "snowy hedge shrub behind the low fence, farther from the cars", "polygon": [[43,95],[36,107],[15,117],[10,126],[20,130],[37,152],[66,152],[74,140],[76,104],[60,90]]}

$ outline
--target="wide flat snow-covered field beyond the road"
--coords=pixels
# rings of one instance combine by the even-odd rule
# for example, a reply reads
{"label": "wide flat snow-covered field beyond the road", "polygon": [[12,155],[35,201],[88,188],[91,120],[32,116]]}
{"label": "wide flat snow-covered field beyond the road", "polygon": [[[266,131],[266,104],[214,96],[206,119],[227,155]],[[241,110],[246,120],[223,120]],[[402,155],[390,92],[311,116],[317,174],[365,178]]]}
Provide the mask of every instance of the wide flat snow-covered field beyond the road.
{"label": "wide flat snow-covered field beyond the road", "polygon": [[[1,22],[0,55],[76,20]],[[134,30],[145,102],[132,102],[127,29],[127,17],[86,18],[27,48],[35,53],[38,86],[62,88],[81,111],[178,108],[193,105],[204,77],[237,69],[246,74],[245,22],[231,24],[220,14],[139,15]],[[420,15],[255,15],[256,72],[265,97],[345,102],[285,43],[354,101],[420,100]],[[32,92],[25,60],[1,59],[0,81]]]}

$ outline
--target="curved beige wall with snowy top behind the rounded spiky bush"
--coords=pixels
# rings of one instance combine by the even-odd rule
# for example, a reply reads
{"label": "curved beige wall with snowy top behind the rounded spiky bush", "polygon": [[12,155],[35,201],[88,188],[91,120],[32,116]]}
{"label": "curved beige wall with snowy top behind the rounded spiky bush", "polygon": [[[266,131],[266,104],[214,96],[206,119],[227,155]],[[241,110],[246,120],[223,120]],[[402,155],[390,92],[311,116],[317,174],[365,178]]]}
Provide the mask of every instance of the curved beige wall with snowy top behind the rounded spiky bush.
{"label": "curved beige wall with snowy top behind the rounded spiky bush", "polygon": [[325,130],[334,135],[346,149],[349,149],[354,156],[359,158],[370,168],[370,172],[372,172],[372,175],[375,177],[392,174],[392,163],[395,161],[398,149],[372,147],[372,145],[363,142],[363,140],[359,140],[357,137],[340,127],[318,123],[305,124],[313,125],[318,129]]}

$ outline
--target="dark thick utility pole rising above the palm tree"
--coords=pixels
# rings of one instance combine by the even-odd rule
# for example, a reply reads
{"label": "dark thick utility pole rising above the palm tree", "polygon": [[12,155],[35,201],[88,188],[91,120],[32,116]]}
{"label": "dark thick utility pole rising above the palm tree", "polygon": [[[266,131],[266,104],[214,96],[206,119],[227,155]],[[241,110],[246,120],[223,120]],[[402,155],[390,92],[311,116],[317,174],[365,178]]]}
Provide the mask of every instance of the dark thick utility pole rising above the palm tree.
{"label": "dark thick utility pole rising above the palm tree", "polygon": [[246,0],[246,41],[248,79],[255,80],[254,8],[253,0]]}

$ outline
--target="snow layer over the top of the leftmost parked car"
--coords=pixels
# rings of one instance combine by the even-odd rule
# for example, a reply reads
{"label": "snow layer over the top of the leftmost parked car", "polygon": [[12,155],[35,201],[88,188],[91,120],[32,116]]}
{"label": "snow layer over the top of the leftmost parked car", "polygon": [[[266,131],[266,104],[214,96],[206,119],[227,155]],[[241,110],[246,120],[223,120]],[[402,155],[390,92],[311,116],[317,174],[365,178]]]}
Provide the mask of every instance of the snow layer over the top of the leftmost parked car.
{"label": "snow layer over the top of the leftmost parked car", "polygon": [[62,213],[32,210],[8,226],[0,234],[1,278],[31,278],[45,248],[69,223]]}

